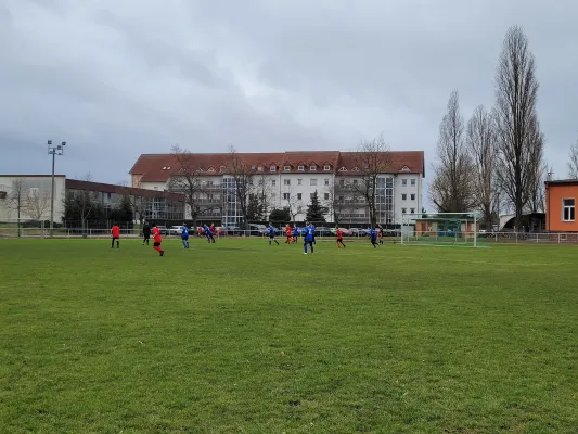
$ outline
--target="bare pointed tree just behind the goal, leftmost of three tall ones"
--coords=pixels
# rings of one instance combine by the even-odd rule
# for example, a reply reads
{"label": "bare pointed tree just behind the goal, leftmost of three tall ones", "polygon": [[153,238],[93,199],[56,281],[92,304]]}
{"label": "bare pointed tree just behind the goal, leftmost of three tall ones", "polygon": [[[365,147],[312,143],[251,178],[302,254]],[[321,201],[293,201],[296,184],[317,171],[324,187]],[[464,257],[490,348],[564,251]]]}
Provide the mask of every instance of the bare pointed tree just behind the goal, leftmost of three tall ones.
{"label": "bare pointed tree just behind the goal, leftmost of three tall ones", "polygon": [[448,112],[439,124],[438,164],[429,196],[441,213],[462,213],[477,207],[474,163],[464,141],[464,119],[460,113],[460,95],[453,90]]}

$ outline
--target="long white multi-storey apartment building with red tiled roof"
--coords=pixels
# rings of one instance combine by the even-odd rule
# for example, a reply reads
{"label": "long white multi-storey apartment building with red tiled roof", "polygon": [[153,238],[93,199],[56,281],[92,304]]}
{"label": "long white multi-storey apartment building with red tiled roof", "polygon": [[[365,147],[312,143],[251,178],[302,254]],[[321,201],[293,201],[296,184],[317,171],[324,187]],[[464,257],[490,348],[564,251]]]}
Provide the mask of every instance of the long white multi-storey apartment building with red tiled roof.
{"label": "long white multi-storey apartment building with red tiled roof", "polygon": [[[387,170],[378,174],[376,182],[377,220],[384,225],[400,225],[403,213],[420,213],[425,175],[423,151],[387,152],[381,154]],[[317,191],[329,212],[326,221],[337,218],[343,225],[367,225],[368,206],[359,183],[363,182],[363,167],[359,153],[339,151],[240,153],[237,162],[252,174],[251,191],[267,196],[270,212],[290,208],[295,221],[303,221]],[[222,225],[239,225],[242,213],[236,203],[235,179],[231,175],[232,156],[220,154],[189,154],[200,182],[197,203],[200,218],[220,219]],[[132,187],[174,191],[174,180],[182,173],[182,162],[172,154],[143,154],[130,169]]]}

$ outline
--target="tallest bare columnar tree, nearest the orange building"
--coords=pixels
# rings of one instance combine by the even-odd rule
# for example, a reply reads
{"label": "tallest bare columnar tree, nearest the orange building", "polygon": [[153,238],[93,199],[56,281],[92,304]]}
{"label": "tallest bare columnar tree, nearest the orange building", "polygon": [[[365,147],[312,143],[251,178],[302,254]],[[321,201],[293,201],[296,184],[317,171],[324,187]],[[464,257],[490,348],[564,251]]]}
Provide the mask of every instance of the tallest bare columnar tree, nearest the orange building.
{"label": "tallest bare columnar tree, nearest the orange building", "polygon": [[522,215],[528,201],[528,184],[536,165],[530,164],[532,146],[539,129],[536,102],[534,54],[521,27],[511,27],[504,38],[496,73],[496,113],[498,126],[497,175],[500,188],[515,210],[515,226],[521,228]]}

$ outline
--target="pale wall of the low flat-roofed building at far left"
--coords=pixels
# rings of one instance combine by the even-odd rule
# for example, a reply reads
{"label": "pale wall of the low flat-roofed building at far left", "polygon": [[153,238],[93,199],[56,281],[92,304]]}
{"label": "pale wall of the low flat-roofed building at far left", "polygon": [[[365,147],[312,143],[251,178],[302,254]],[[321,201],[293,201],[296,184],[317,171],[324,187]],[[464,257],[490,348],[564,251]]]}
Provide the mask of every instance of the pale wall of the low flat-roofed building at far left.
{"label": "pale wall of the low flat-roofed building at far left", "polygon": [[[0,199],[0,220],[10,220],[17,218],[17,209],[14,209],[14,204],[11,203],[10,196],[13,194],[14,181],[22,180],[25,187],[26,195],[35,201],[36,208],[41,213],[40,218],[44,220],[50,219],[50,196],[52,189],[51,176],[0,176],[0,191],[7,192],[7,199]],[[65,193],[64,177],[54,177],[54,221],[62,222],[64,216],[64,193]],[[38,189],[38,190],[30,190]],[[37,194],[36,199],[31,199],[31,194]],[[27,197],[28,199],[28,197]],[[21,219],[31,219],[28,212],[28,206],[23,202],[21,206]]]}

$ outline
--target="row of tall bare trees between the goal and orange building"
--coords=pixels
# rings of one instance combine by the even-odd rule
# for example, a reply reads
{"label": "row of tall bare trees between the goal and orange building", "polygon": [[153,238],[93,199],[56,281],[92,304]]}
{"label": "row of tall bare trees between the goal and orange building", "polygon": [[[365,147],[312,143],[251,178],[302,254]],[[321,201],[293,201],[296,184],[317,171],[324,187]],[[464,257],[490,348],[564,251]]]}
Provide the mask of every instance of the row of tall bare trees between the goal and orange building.
{"label": "row of tall bare trees between the goal and orange building", "polygon": [[[429,197],[439,212],[479,210],[491,225],[502,206],[522,228],[524,213],[544,209],[544,135],[537,113],[539,82],[528,38],[518,26],[503,40],[494,79],[496,102],[479,105],[467,122],[459,93],[450,94],[439,126]],[[578,142],[570,150],[570,176],[578,178]]]}

